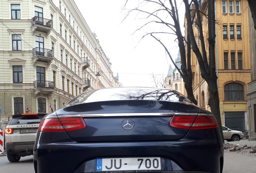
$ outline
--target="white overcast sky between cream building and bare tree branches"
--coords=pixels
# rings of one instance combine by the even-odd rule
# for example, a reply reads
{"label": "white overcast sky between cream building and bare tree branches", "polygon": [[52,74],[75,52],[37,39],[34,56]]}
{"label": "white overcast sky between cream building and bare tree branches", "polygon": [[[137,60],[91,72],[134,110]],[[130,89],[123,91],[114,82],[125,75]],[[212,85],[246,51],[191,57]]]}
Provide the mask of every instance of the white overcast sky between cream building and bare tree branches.
{"label": "white overcast sky between cream building and bare tree branches", "polygon": [[[155,87],[153,74],[158,80],[167,76],[171,60],[164,48],[150,36],[141,39],[143,31],[133,34],[142,21],[130,17],[122,22],[124,0],[74,1],[123,86]],[[176,44],[171,53],[173,58],[177,57]]]}

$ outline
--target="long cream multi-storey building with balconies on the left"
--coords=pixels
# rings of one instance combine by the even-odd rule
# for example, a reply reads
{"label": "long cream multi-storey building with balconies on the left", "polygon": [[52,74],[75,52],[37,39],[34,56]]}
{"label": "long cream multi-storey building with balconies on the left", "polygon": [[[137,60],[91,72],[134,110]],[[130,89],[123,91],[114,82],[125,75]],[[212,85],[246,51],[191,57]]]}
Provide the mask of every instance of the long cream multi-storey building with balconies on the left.
{"label": "long cream multi-storey building with balconies on the left", "polygon": [[13,114],[50,113],[84,91],[119,86],[74,0],[0,6],[2,127]]}

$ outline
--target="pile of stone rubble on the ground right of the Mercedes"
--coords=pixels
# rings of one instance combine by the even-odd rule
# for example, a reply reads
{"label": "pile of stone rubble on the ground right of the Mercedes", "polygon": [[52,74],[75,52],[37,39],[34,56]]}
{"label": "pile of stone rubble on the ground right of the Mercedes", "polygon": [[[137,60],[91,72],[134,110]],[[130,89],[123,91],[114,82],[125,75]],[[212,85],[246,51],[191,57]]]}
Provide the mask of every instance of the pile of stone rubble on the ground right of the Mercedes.
{"label": "pile of stone rubble on the ground right of the Mercedes", "polygon": [[256,145],[233,145],[230,143],[224,144],[224,151],[248,156],[256,156]]}

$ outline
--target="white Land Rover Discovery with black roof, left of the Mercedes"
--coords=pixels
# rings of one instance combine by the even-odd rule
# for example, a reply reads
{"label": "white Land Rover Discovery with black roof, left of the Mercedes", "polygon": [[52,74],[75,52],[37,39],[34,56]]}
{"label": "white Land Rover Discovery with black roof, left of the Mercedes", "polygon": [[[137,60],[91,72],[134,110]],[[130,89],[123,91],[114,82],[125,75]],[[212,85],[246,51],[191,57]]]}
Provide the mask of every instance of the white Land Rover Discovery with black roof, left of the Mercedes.
{"label": "white Land Rover Discovery with black roof, left of the Mercedes", "polygon": [[25,113],[12,115],[5,129],[5,147],[10,162],[33,155],[35,137],[41,119],[47,113]]}

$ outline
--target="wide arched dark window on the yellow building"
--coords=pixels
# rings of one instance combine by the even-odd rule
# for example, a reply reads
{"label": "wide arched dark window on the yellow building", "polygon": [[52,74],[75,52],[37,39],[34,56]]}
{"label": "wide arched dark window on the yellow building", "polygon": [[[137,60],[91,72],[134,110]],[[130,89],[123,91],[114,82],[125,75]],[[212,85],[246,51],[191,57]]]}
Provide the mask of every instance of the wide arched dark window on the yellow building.
{"label": "wide arched dark window on the yellow building", "polygon": [[225,101],[243,101],[244,87],[242,84],[229,83],[224,86]]}

